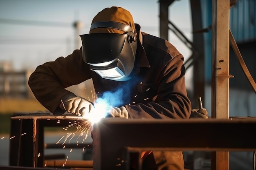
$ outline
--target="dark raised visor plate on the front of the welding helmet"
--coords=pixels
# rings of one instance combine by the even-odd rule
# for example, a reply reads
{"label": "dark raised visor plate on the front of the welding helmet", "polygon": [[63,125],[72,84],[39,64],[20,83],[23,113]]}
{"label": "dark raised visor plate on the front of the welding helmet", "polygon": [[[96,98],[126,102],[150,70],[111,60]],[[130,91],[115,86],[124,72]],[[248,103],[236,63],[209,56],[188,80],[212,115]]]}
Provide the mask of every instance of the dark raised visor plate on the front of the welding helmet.
{"label": "dark raised visor plate on the front of the welding helmet", "polygon": [[80,37],[83,43],[83,61],[99,64],[117,58],[124,47],[127,34],[91,33]]}

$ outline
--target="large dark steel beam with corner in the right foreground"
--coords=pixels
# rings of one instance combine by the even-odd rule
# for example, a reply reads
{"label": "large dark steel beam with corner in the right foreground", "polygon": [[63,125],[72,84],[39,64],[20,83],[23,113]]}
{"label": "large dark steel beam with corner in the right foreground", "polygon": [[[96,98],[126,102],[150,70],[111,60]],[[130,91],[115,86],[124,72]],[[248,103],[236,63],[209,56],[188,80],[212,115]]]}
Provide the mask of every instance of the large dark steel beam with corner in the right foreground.
{"label": "large dark steel beam with corner in the right foreground", "polygon": [[128,170],[131,153],[150,150],[256,150],[255,128],[255,118],[102,119],[94,124],[93,169]]}

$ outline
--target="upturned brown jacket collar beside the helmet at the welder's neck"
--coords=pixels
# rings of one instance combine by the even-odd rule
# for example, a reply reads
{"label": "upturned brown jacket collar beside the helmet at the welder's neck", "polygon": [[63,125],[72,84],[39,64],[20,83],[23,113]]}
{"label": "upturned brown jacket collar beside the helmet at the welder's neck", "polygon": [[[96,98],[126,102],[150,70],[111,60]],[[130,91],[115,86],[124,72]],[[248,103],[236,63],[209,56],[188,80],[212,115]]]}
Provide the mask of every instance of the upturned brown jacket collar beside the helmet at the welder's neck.
{"label": "upturned brown jacket collar beside the helmet at the welder's neck", "polygon": [[137,39],[139,39],[139,43],[137,44],[137,67],[150,67],[147,55],[145,53],[144,47],[143,47],[143,36],[140,31],[140,25],[135,24],[135,29],[137,31]]}

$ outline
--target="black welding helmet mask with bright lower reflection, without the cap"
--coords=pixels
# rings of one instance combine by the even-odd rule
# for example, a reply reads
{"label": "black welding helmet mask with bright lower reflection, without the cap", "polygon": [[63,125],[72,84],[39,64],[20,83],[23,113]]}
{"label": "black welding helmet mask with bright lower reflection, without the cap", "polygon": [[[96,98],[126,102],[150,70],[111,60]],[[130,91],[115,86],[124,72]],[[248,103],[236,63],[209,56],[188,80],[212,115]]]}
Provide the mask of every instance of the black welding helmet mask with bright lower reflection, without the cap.
{"label": "black welding helmet mask with bright lower reflection, without the cap", "polygon": [[83,61],[102,78],[123,81],[135,62],[136,39],[133,32],[80,35]]}

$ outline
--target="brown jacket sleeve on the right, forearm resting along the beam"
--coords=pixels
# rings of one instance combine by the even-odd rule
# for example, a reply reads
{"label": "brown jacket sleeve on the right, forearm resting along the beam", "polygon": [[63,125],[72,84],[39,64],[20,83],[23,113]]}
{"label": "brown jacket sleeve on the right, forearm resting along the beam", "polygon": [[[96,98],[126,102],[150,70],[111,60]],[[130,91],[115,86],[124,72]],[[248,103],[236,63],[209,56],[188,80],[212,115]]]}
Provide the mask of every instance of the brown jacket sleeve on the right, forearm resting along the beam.
{"label": "brown jacket sleeve on the right, forearm resting along the beam", "polygon": [[157,97],[147,104],[126,105],[129,118],[188,119],[191,102],[185,86],[185,68],[180,54],[162,69],[157,81]]}

